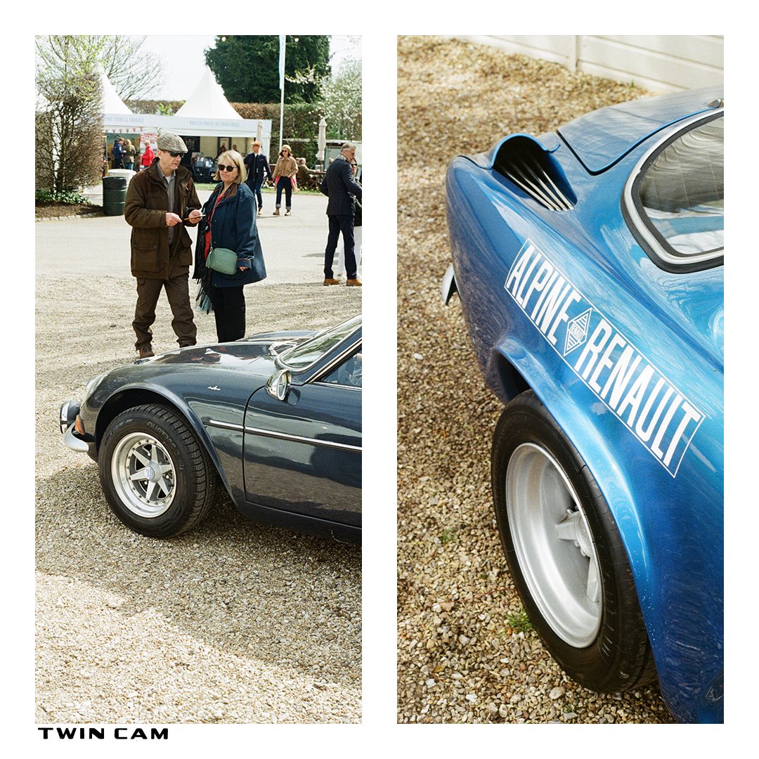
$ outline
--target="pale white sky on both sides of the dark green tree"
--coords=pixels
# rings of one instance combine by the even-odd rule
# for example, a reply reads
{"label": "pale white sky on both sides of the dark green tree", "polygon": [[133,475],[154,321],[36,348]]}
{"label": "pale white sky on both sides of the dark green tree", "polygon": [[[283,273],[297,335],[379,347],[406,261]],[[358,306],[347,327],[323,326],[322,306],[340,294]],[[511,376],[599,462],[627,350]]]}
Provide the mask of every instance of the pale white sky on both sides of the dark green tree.
{"label": "pale white sky on both sides of the dark green tree", "polygon": [[[153,52],[162,58],[165,82],[160,90],[150,99],[186,100],[191,96],[200,77],[206,58],[203,51],[214,46],[213,35],[175,35],[146,36],[143,52]],[[332,55],[332,71],[345,58],[361,58],[361,44],[355,43],[355,37],[334,35],[329,40],[329,52]]]}

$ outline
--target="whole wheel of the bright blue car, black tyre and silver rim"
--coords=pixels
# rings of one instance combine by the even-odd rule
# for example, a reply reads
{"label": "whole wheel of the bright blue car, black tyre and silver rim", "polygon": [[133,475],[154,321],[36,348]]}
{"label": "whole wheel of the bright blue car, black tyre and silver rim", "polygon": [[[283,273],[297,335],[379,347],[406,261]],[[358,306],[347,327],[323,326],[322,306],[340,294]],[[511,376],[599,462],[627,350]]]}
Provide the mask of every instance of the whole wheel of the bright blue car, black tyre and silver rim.
{"label": "whole wheel of the bright blue car, black tyre and silver rim", "polygon": [[622,538],[593,475],[531,390],[506,406],[491,458],[514,584],[562,669],[612,693],[656,679]]}

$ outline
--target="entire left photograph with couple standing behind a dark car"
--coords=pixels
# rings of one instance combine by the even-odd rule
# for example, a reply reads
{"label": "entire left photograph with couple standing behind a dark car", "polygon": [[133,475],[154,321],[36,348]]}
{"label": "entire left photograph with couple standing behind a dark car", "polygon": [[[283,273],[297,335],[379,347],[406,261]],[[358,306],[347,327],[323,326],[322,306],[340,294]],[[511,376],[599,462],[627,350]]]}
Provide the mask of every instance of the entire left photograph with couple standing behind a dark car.
{"label": "entire left photograph with couple standing behind a dark car", "polygon": [[361,37],[34,44],[36,723],[361,722]]}

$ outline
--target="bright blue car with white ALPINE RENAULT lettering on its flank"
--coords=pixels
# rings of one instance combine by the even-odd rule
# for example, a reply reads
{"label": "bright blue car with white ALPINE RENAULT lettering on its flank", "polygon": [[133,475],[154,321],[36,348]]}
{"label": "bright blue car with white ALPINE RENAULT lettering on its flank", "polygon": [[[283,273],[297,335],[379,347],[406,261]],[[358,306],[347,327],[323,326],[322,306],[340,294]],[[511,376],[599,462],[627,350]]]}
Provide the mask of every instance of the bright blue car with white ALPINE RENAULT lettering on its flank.
{"label": "bright blue car with white ALPINE RENAULT lettering on its flank", "polygon": [[723,99],[504,137],[446,177],[496,521],[565,672],[723,720]]}

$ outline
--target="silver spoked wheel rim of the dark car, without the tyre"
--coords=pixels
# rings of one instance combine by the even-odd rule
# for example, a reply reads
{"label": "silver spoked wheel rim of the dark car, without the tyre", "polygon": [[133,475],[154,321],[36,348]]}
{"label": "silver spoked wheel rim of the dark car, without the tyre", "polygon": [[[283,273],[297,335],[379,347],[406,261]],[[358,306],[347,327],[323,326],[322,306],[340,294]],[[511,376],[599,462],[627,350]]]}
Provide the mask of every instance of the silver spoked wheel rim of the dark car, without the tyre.
{"label": "silver spoked wheel rim of the dark car, without the tyre", "polygon": [[111,457],[111,477],[121,502],[137,516],[157,517],[172,505],[174,461],[148,433],[131,433],[118,441]]}

